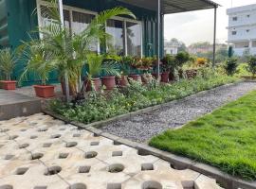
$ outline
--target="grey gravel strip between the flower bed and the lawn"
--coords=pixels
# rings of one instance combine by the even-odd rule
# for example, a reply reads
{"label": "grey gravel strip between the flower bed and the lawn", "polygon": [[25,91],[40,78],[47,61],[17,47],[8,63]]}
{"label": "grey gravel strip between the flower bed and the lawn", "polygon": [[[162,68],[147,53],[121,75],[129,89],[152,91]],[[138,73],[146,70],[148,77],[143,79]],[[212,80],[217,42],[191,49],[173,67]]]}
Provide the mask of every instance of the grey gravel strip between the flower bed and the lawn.
{"label": "grey gravel strip between the flower bed and the lawn", "polygon": [[256,90],[256,82],[241,82],[225,88],[216,88],[206,94],[197,94],[186,100],[178,100],[172,108],[140,114],[101,129],[122,138],[144,143],[166,129],[181,127],[253,90]]}

